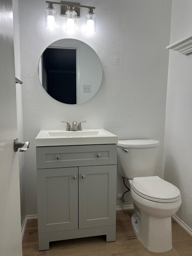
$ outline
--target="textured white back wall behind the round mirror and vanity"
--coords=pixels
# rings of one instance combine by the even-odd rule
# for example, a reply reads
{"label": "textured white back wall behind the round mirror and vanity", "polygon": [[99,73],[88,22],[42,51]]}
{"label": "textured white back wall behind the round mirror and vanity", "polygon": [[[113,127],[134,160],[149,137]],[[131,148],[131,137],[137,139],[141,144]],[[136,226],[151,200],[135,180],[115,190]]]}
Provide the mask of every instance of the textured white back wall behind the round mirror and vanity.
{"label": "textured white back wall behind the round mirror and vanity", "polygon": [[[69,35],[62,28],[44,28],[44,0],[19,0],[21,77],[24,140],[30,149],[24,156],[26,214],[37,213],[35,137],[41,129],[64,129],[61,120],[87,120],[82,128],[104,128],[123,139],[156,139],[161,143],[155,174],[162,176],[165,105],[170,41],[171,1],[82,0],[95,6],[97,33],[87,36],[79,29]],[[59,13],[59,7],[55,5]],[[82,16],[86,10],[82,9]],[[81,26],[84,19],[78,20]],[[63,38],[79,39],[98,53],[103,81],[97,94],[71,106],[50,99],[37,74],[44,49]],[[118,175],[117,194],[125,191]],[[132,204],[126,195],[125,205]],[[122,205],[120,201],[117,204]]]}

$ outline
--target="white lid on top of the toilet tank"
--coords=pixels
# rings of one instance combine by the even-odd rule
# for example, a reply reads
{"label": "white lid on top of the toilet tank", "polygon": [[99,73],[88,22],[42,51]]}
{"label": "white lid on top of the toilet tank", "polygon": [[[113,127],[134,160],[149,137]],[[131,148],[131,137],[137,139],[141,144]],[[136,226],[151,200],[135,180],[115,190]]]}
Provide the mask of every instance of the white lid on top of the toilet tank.
{"label": "white lid on top of the toilet tank", "polygon": [[118,147],[124,148],[154,148],[159,146],[158,140],[118,140]]}

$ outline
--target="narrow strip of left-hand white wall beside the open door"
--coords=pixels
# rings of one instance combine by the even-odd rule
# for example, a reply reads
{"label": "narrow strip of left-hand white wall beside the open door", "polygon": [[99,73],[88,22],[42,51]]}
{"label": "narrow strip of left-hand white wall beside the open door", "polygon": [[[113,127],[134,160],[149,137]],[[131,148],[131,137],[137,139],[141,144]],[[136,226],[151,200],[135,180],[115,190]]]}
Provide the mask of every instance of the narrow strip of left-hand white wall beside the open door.
{"label": "narrow strip of left-hand white wall beside the open door", "polygon": [[[18,79],[21,79],[18,0],[13,0],[13,33],[14,33],[15,76]],[[17,104],[18,139],[19,141],[23,141],[22,96],[21,96],[21,85],[18,83],[16,84],[16,104]],[[26,216],[23,153],[19,153],[19,183],[20,183],[21,225],[22,225],[23,220]]]}

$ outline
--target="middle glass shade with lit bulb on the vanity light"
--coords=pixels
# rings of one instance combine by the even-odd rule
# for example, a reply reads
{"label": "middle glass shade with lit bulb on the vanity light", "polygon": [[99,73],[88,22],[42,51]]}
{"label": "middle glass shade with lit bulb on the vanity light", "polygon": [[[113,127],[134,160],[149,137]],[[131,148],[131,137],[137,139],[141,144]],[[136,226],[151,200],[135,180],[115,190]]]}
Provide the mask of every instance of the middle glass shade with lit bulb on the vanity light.
{"label": "middle glass shade with lit bulb on the vanity light", "polygon": [[66,11],[66,24],[65,30],[67,32],[73,33],[77,31],[77,13],[73,10],[74,7],[69,6],[69,9]]}

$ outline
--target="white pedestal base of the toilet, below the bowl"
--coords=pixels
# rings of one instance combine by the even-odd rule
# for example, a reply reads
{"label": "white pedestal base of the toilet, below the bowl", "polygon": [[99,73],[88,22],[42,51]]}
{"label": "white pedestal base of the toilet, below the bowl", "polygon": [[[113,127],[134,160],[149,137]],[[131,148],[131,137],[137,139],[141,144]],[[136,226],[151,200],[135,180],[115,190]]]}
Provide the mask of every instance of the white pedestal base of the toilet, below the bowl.
{"label": "white pedestal base of the toilet, below the bowl", "polygon": [[141,212],[138,219],[134,213],[131,224],[137,238],[148,251],[166,252],[172,249],[171,217],[154,218]]}

